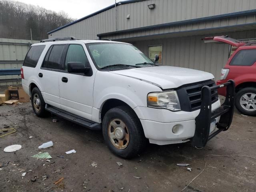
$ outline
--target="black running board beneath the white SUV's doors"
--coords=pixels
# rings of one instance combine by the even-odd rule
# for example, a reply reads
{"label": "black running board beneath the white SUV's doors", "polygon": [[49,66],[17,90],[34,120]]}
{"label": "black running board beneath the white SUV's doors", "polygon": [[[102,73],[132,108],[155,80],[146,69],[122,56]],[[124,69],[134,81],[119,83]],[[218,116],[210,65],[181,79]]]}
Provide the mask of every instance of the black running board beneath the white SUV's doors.
{"label": "black running board beneath the white SUV's doors", "polygon": [[59,108],[56,108],[54,106],[45,104],[45,110],[47,110],[48,112],[50,112],[54,115],[60,116],[64,119],[66,119],[66,120],[74,122],[78,125],[89,128],[91,130],[101,130],[101,124],[100,123],[93,122],[91,120],[88,120],[86,118],[80,117],[80,116],[75,115],[75,114],[72,114],[70,112],[66,112],[66,111],[61,110]]}

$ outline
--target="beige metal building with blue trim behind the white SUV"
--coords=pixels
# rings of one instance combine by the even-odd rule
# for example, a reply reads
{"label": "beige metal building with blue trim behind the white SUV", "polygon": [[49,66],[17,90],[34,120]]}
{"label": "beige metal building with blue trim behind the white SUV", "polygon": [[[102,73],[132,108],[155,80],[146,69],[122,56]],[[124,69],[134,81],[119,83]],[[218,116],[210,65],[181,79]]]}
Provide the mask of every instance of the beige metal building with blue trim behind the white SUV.
{"label": "beige metal building with blue trim behind the white SUV", "polygon": [[225,44],[204,44],[205,36],[256,38],[256,0],[128,0],[48,32],[49,38],[130,42],[160,64],[211,72],[229,57]]}

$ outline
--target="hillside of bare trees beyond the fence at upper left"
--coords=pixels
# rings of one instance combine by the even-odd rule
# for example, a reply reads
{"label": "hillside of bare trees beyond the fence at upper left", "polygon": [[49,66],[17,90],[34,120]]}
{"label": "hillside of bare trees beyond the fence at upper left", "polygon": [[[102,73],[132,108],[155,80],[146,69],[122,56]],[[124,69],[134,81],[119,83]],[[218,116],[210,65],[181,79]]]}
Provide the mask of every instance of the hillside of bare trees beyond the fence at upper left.
{"label": "hillside of bare trees beyond the fence at upper left", "polygon": [[47,32],[74,21],[65,12],[54,12],[22,2],[0,0],[0,38],[48,38]]}

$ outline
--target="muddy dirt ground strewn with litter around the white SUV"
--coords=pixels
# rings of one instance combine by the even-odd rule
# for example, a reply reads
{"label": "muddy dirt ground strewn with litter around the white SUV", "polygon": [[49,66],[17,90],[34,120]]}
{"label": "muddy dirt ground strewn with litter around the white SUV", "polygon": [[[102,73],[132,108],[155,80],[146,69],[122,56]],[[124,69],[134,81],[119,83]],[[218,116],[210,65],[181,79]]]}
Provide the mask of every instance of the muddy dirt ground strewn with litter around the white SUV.
{"label": "muddy dirt ground strewn with litter around the white SUV", "polygon": [[[30,103],[0,106],[0,129],[16,129],[15,133],[0,137],[0,164],[9,162],[0,168],[0,192],[176,192],[202,171],[208,154],[256,157],[256,117],[237,111],[230,129],[201,150],[189,143],[149,144],[144,153],[131,160],[113,155],[100,131],[57,119],[58,122],[52,122],[51,117],[38,118]],[[1,133],[0,136],[4,134]],[[54,143],[53,147],[38,149],[48,141]],[[3,151],[12,144],[22,148],[11,153]],[[65,154],[72,149],[76,153]],[[48,152],[52,156],[50,162],[31,157],[38,152]],[[256,160],[238,156],[209,156],[206,160],[206,170],[184,191],[256,190]],[[92,166],[93,162],[97,165]],[[177,163],[190,164],[192,172]],[[61,182],[54,184],[62,177]]]}

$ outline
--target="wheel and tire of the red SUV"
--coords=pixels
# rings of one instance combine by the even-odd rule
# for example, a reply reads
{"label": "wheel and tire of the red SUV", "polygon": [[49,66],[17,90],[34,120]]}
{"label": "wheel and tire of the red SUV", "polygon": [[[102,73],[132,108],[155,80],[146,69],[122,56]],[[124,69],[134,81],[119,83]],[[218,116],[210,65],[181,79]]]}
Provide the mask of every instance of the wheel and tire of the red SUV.
{"label": "wheel and tire of the red SUV", "polygon": [[236,94],[236,108],[242,114],[256,116],[256,88],[246,87]]}

